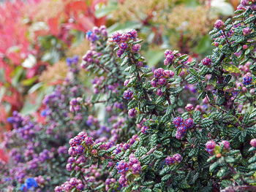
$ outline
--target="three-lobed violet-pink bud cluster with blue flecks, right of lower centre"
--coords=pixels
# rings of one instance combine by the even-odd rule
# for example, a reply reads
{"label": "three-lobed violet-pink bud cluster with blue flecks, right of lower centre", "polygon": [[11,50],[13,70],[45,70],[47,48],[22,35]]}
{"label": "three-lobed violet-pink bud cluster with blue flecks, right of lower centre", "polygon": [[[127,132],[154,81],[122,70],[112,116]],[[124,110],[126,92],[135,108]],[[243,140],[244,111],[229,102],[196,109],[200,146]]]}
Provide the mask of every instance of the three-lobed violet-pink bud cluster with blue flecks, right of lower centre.
{"label": "three-lobed violet-pink bud cluster with blue flecks, right of lower centre", "polygon": [[176,126],[176,139],[181,139],[187,132],[188,128],[192,128],[194,126],[194,122],[192,118],[188,118],[187,120],[183,120],[181,117],[177,117],[173,119],[173,124]]}

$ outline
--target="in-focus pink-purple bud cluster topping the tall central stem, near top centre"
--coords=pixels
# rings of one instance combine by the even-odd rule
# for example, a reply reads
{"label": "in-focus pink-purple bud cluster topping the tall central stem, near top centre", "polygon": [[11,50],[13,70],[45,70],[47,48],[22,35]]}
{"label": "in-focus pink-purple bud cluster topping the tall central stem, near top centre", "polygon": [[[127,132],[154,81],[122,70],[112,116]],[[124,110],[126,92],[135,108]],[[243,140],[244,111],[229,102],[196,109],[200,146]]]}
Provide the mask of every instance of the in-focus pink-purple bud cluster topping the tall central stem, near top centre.
{"label": "in-focus pink-purple bud cluster topping the tall central stem, near top centre", "polygon": [[[134,29],[128,31],[127,33],[120,34],[116,32],[112,35],[113,42],[116,42],[119,45],[119,49],[116,51],[116,55],[118,57],[121,57],[121,55],[124,53],[125,50],[129,47],[129,41],[133,40],[134,42],[138,41],[138,35],[137,31]],[[132,45],[132,52],[137,53],[140,50],[140,45],[135,44]]]}

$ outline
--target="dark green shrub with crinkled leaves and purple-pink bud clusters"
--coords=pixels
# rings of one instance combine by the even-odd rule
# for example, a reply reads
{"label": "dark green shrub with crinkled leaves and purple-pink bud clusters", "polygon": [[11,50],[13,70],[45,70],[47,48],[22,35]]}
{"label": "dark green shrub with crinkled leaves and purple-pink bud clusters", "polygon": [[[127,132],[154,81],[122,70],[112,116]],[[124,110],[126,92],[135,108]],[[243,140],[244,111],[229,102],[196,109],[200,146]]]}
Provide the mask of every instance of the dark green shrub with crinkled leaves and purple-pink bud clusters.
{"label": "dark green shrub with crinkled leaves and purple-pink bud clusters", "polygon": [[[79,84],[73,89],[69,80],[57,87],[44,99],[46,130],[15,112],[9,119],[15,129],[7,134],[6,145],[13,148],[18,166],[9,172],[16,178],[3,181],[18,181],[21,190],[36,188],[48,171],[51,185],[43,190],[54,186],[58,192],[256,191],[255,10],[255,0],[242,0],[233,19],[217,20],[210,31],[216,48],[202,61],[166,50],[162,68],[154,70],[140,54],[137,31],[110,38],[105,26],[88,31],[91,50],[81,67],[97,74],[93,93],[78,91]],[[67,64],[73,83],[79,83],[78,58]],[[57,128],[49,128],[53,125]],[[61,141],[57,146],[74,130],[65,169],[61,155],[48,147],[29,161],[30,153],[21,153],[48,146],[33,139],[48,142],[40,134],[48,129],[51,136],[63,135],[63,142],[51,140]],[[15,142],[20,138],[26,142],[19,149]],[[2,170],[6,166],[1,163]],[[40,166],[42,174],[31,172]],[[67,181],[55,173],[66,170]]]}

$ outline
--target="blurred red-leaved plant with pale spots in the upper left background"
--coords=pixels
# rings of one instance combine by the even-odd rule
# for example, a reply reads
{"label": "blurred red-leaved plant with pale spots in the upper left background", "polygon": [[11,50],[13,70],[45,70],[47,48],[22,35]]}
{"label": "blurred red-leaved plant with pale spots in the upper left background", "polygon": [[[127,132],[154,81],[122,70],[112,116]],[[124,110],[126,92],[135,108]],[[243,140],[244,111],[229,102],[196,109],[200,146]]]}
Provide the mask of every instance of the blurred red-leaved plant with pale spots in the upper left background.
{"label": "blurred red-leaved plant with pale spots in the upper left background", "polygon": [[[1,4],[0,131],[11,128],[7,117],[12,111],[21,110],[24,115],[37,112],[45,95],[39,75],[48,67],[53,69],[53,64],[65,68],[58,62],[70,50],[74,53],[73,47],[83,42],[84,32],[105,23],[104,17],[94,16],[99,3],[105,4],[105,0],[16,0]],[[57,76],[62,77],[63,72],[58,70]]]}

